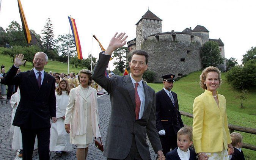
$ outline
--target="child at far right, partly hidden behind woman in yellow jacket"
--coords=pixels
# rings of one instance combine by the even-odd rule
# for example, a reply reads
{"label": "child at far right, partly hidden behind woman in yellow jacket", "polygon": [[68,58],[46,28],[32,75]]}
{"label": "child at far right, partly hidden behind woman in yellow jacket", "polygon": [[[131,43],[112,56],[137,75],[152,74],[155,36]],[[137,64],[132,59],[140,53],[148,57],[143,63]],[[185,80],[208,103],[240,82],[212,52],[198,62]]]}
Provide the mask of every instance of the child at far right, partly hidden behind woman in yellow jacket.
{"label": "child at far right, partly hidden behind woman in yellow jacket", "polygon": [[232,140],[232,146],[234,147],[234,153],[229,155],[230,160],[245,160],[243,151],[241,149],[243,145],[243,136],[240,133],[233,132],[230,134]]}

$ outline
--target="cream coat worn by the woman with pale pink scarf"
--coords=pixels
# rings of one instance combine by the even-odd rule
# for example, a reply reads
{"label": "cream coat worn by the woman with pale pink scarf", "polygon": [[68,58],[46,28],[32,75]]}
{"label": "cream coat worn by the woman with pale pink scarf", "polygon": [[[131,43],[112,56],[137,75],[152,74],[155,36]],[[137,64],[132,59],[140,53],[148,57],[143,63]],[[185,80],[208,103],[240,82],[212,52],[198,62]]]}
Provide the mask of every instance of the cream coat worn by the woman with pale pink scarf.
{"label": "cream coat worn by the woman with pale pink scarf", "polygon": [[[75,117],[75,111],[77,110],[76,108],[76,92],[79,92],[80,96],[80,106],[83,106],[83,112],[84,112],[84,119],[85,122],[83,123],[83,127],[86,128],[86,133],[84,135],[75,135],[74,137],[72,136],[72,128]],[[70,131],[70,142],[72,144],[90,144],[93,142],[93,128],[92,128],[92,121],[91,121],[91,99],[90,99],[90,94],[93,94],[96,100],[96,108],[97,108],[97,91],[96,89],[92,88],[89,86],[88,92],[86,95],[83,94],[82,87],[79,85],[76,88],[71,89],[70,94],[69,94],[69,103],[68,107],[66,110],[66,117],[65,117],[65,124],[70,124],[71,126],[71,131]],[[96,109],[96,116],[97,116],[97,124],[99,122],[99,115],[98,115],[98,109]],[[97,126],[98,127],[98,126]]]}

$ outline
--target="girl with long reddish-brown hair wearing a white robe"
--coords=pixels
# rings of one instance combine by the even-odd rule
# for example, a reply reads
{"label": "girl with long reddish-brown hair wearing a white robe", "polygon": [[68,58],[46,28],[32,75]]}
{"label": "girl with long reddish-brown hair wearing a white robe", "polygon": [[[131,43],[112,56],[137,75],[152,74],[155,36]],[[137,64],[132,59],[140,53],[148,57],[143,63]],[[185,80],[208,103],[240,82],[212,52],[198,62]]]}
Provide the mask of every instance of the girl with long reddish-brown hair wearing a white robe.
{"label": "girl with long reddish-brown hair wearing a white robe", "polygon": [[50,151],[57,151],[56,155],[61,156],[63,152],[72,151],[72,144],[69,141],[69,134],[64,127],[66,108],[69,100],[68,80],[62,79],[56,88],[56,118],[58,121],[52,123],[50,129]]}

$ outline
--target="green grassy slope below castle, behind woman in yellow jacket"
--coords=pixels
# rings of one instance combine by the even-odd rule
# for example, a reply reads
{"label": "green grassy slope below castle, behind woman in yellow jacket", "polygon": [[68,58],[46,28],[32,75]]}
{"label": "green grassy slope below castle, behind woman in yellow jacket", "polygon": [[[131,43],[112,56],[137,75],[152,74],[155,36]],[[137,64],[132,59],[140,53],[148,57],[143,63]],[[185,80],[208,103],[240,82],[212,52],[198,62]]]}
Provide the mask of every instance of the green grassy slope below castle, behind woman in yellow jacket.
{"label": "green grassy slope below castle, behind woman in yellow jacket", "polygon": [[[179,110],[193,113],[193,102],[195,97],[203,93],[203,89],[199,86],[199,72],[193,72],[187,77],[183,77],[177,82],[174,82],[173,91],[177,93],[179,100]],[[244,127],[256,128],[256,88],[249,89],[247,99],[244,100],[244,108],[240,108],[240,100],[236,100],[235,96],[240,92],[233,89],[231,85],[226,82],[226,73],[221,74],[223,83],[218,89],[218,93],[226,97],[226,107],[228,115],[228,123],[240,125]],[[148,83],[155,92],[163,88],[163,84]],[[182,116],[185,124],[192,126],[193,119]],[[235,131],[237,132],[237,131]],[[241,132],[240,132],[241,133]],[[241,133],[243,135],[243,142],[256,146],[256,136],[249,133]],[[256,151],[243,149],[247,159],[256,159]]]}

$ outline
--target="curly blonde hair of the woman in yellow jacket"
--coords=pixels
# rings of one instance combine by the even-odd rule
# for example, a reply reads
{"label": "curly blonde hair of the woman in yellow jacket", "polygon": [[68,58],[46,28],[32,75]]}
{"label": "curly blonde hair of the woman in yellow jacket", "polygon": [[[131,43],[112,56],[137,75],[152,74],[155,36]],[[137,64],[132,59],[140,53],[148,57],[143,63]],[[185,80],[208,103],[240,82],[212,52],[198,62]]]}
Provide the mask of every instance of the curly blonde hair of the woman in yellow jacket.
{"label": "curly blonde hair of the woman in yellow jacket", "polygon": [[218,73],[218,79],[219,79],[219,86],[221,85],[222,83],[222,80],[220,78],[220,70],[217,68],[217,67],[213,67],[213,66],[209,66],[209,67],[206,67],[202,74],[200,75],[200,86],[201,88],[203,89],[207,89],[206,87],[206,84],[204,83],[205,80],[206,80],[206,75],[209,73],[209,72],[216,72]]}

